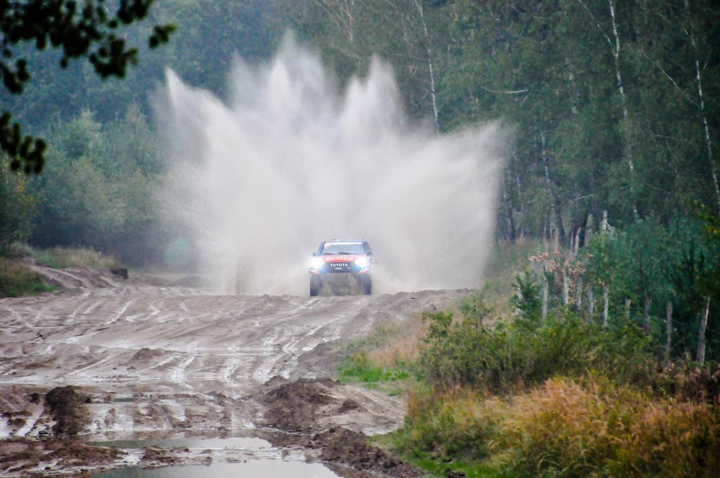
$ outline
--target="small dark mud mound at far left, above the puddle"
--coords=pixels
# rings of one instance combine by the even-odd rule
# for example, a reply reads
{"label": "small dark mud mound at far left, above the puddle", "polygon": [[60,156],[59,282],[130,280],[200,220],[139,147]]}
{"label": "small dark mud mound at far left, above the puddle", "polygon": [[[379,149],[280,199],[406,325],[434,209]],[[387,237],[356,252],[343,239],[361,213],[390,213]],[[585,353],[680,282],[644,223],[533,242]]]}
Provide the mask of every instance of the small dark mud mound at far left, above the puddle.
{"label": "small dark mud mound at far left, above the puddle", "polygon": [[87,403],[89,397],[78,394],[76,387],[55,387],[45,394],[45,410],[55,425],[53,433],[56,436],[75,436],[81,433],[89,423]]}

